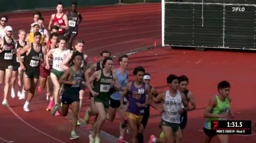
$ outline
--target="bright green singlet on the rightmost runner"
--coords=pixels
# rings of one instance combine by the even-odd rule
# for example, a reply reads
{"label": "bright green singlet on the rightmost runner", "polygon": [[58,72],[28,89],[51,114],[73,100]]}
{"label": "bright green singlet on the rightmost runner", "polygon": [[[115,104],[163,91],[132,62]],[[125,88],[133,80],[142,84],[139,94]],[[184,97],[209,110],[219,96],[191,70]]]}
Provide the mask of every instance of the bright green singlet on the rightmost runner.
{"label": "bright green singlet on the rightmost runner", "polygon": [[[217,100],[217,106],[213,107],[211,113],[212,114],[225,114],[229,113],[230,111],[230,102],[229,99],[226,97],[225,101],[219,100],[219,95],[215,95]],[[211,121],[218,121],[218,120],[227,120],[226,118],[207,118],[204,124],[206,129],[211,129]]]}

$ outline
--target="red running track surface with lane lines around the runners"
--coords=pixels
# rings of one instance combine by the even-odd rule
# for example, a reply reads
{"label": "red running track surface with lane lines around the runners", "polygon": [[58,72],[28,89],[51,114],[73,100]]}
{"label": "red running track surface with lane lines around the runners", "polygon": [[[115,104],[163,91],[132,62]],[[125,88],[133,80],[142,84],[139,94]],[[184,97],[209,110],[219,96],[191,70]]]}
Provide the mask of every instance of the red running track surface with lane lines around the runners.
{"label": "red running track surface with lane lines around the runners", "polygon": [[[78,37],[85,39],[87,54],[98,56],[102,50],[115,54],[152,45],[161,41],[161,5],[136,4],[86,7],[79,9],[85,20],[79,27]],[[50,14],[55,11],[43,11],[49,23]],[[15,37],[21,28],[29,31],[31,12],[9,14],[9,25],[14,28]],[[156,55],[157,54],[157,55]],[[151,84],[163,92],[168,89],[165,78],[170,73],[178,76],[185,74],[190,78],[189,89],[195,94],[197,110],[189,112],[189,122],[184,131],[183,142],[203,142],[204,124],[203,109],[211,96],[217,92],[220,80],[231,82],[232,103],[235,112],[234,119],[252,120],[255,118],[254,79],[255,54],[244,52],[218,52],[193,50],[153,49],[130,56],[129,79],[133,79],[132,70],[142,65],[153,77]],[[0,86],[3,91],[3,85]],[[2,101],[2,96],[0,97]],[[89,142],[87,130],[78,127],[80,139],[70,141],[70,122],[64,117],[52,117],[45,111],[47,101],[45,94],[38,94],[30,104],[31,112],[23,111],[24,100],[11,99],[8,96],[10,108],[0,107],[0,142],[13,140],[15,142]],[[88,93],[82,108],[82,116],[88,107]],[[239,113],[238,113],[239,112]],[[18,118],[19,117],[19,118]],[[160,115],[151,109],[151,116],[144,133],[145,142],[150,134],[159,134],[158,123]],[[108,121],[103,130],[119,136],[117,116],[114,123]],[[254,132],[253,132],[254,133]],[[255,133],[254,133],[255,134]],[[129,136],[125,136],[129,139]],[[113,142],[102,140],[102,142]],[[213,142],[218,142],[214,139]],[[230,142],[256,142],[256,136],[230,136]]]}

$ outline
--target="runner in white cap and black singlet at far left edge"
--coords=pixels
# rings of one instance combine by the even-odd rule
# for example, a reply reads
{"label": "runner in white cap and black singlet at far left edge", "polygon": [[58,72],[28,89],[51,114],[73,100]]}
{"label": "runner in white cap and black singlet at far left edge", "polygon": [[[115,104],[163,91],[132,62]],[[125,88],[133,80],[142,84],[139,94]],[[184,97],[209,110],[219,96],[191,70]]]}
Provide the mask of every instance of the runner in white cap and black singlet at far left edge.
{"label": "runner in white cap and black singlet at far left edge", "polygon": [[4,29],[6,35],[0,39],[0,84],[3,83],[5,77],[4,100],[2,104],[4,106],[8,106],[6,98],[9,93],[10,87],[10,80],[12,74],[12,55],[13,49],[15,49],[15,42],[11,37],[12,27],[6,26]]}

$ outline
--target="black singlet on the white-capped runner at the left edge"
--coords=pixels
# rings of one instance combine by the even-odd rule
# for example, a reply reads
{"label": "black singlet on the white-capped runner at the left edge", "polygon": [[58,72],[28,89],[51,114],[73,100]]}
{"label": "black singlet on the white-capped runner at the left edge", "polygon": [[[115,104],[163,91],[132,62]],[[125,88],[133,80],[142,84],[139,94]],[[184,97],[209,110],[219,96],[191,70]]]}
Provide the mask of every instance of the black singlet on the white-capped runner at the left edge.
{"label": "black singlet on the white-capped runner at the left edge", "polygon": [[[1,61],[2,60],[11,61],[12,56],[13,56],[13,49],[15,48],[14,41],[11,38],[11,43],[7,43],[6,40],[5,40],[5,37],[3,39],[4,39],[4,45],[6,46],[6,48],[5,48],[5,50],[3,50],[0,53],[0,59],[1,59]],[[1,49],[3,49],[3,47],[1,47]],[[4,62],[4,61],[2,61],[2,62]]]}

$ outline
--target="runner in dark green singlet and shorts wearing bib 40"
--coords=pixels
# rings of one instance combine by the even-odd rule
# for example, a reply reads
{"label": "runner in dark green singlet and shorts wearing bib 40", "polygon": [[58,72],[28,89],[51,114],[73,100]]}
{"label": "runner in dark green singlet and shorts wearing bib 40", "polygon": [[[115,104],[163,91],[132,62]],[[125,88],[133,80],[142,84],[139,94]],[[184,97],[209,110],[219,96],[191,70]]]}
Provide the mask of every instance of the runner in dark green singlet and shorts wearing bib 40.
{"label": "runner in dark green singlet and shorts wearing bib 40", "polygon": [[[93,133],[89,135],[90,143],[100,142],[101,127],[106,119],[106,110],[109,108],[110,88],[114,88],[116,91],[121,89],[116,75],[112,73],[112,65],[112,58],[106,57],[103,60],[103,69],[95,71],[86,82],[89,91],[94,96],[95,107],[99,111],[99,117],[94,125]],[[94,89],[91,87],[92,82]]]}

